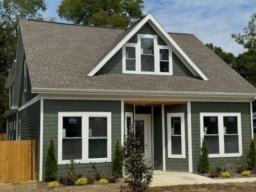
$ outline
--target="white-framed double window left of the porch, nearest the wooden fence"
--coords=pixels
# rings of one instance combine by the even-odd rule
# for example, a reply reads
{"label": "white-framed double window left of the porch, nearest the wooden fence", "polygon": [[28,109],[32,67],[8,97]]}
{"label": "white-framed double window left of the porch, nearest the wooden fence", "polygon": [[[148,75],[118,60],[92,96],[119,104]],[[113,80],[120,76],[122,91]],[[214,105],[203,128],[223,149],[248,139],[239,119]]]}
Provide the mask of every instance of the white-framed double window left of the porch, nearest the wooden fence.
{"label": "white-framed double window left of the porch, nearest the wooden fence", "polygon": [[58,164],[111,162],[111,112],[59,112]]}

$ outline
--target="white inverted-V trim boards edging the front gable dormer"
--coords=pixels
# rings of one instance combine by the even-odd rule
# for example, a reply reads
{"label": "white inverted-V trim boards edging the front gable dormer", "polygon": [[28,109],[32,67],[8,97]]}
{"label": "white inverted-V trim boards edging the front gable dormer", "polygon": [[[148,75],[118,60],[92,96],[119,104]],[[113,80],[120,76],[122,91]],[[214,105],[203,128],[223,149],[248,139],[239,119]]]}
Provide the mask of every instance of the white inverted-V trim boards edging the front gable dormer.
{"label": "white inverted-V trim boards edging the front gable dormer", "polygon": [[87,74],[87,76],[94,76],[105,64],[106,62],[112,57],[114,56],[115,53],[117,53],[118,50],[120,50],[122,48],[122,46],[129,41],[129,39],[131,37],[133,37],[133,35],[135,35],[139,29],[141,27],[143,27],[145,25],[145,23],[147,23],[148,21],[151,21],[151,24],[154,24],[156,26],[156,28],[159,29],[159,31],[161,31],[161,33],[163,34],[163,36],[174,46],[175,49],[177,49],[177,51],[184,57],[184,59],[188,62],[188,64],[195,70],[196,74],[198,77],[201,77],[203,80],[207,81],[209,80],[205,74],[203,74],[201,72],[201,70],[195,65],[195,63],[187,56],[187,54],[185,54],[185,52],[179,47],[179,45],[174,41],[174,39],[167,33],[167,31],[161,26],[161,24],[156,20],[156,18],[154,18],[153,15],[151,15],[151,13],[148,13],[148,15],[146,15],[141,21],[140,23],[138,23],[137,26],[135,26],[130,33],[128,33],[118,44],[117,46],[115,46],[114,49],[112,49],[107,56],[105,56],[105,58],[103,58],[99,64],[97,64],[97,66],[92,69],[92,71],[90,73]]}

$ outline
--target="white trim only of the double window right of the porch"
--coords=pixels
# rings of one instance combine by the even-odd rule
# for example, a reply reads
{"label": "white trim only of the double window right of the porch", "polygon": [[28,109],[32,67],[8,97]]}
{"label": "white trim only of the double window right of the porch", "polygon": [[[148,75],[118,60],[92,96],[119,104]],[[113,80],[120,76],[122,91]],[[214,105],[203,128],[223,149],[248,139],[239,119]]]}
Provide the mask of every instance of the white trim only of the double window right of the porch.
{"label": "white trim only of the double window right of the porch", "polygon": [[[243,154],[242,147],[242,128],[241,128],[241,113],[200,113],[200,138],[201,147],[202,139],[204,138],[204,117],[216,116],[218,117],[218,136],[219,136],[219,154],[209,154],[209,158],[220,158],[220,157],[239,157]],[[224,148],[224,131],[223,131],[223,116],[234,116],[237,117],[237,129],[238,129],[238,150],[239,153],[225,154]]]}

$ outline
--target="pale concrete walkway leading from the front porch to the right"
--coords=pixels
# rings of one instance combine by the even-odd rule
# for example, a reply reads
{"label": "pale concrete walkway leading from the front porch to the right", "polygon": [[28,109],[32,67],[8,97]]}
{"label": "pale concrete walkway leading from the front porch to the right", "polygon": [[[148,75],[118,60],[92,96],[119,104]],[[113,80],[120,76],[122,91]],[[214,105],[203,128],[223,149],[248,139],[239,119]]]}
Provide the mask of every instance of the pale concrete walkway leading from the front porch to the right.
{"label": "pale concrete walkway leading from the front porch to the right", "polygon": [[256,177],[237,179],[211,179],[188,172],[163,172],[154,170],[151,187],[169,186],[179,184],[208,184],[208,183],[228,183],[228,182],[256,182]]}

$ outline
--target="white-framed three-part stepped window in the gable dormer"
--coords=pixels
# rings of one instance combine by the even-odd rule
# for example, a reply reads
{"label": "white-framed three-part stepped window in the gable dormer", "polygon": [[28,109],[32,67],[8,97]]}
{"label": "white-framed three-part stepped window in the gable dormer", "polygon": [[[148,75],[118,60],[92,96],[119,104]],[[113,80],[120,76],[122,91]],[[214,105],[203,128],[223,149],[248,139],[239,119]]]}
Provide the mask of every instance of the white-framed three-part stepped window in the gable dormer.
{"label": "white-framed three-part stepped window in the gable dormer", "polygon": [[137,34],[138,43],[126,43],[123,73],[172,75],[172,49],[158,45],[157,35]]}

